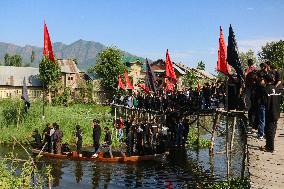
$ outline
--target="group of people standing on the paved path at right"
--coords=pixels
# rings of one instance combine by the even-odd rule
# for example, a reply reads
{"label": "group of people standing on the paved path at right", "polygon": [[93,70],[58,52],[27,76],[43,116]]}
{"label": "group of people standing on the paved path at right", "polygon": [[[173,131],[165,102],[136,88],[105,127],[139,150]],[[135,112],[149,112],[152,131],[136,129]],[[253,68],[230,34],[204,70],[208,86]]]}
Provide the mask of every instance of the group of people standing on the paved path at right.
{"label": "group of people standing on the paved path at right", "polygon": [[249,60],[248,65],[245,72],[245,101],[249,122],[251,127],[257,130],[258,139],[266,139],[266,145],[261,149],[273,152],[282,101],[281,76],[269,62],[260,64],[259,69],[253,65],[252,60]]}

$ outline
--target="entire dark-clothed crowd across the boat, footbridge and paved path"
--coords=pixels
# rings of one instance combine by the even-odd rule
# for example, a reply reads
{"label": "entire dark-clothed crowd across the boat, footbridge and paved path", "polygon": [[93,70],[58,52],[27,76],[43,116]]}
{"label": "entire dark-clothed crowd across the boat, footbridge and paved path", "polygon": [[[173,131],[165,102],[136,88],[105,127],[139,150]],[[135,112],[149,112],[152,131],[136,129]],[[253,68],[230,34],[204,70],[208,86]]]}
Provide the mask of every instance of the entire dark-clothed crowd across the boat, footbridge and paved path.
{"label": "entire dark-clothed crowd across the boat, footbridge and paved path", "polygon": [[[126,145],[125,153],[144,155],[165,152],[170,146],[184,146],[189,132],[189,120],[177,112],[197,111],[218,107],[248,110],[249,123],[257,130],[258,139],[266,138],[266,146],[262,150],[274,151],[274,137],[277,121],[280,117],[280,101],[282,96],[282,82],[280,73],[269,62],[260,64],[260,68],[248,61],[248,68],[244,75],[244,82],[237,77],[230,76],[228,80],[228,101],[226,103],[226,84],[224,82],[205,83],[203,87],[188,88],[170,93],[130,93],[127,96],[117,94],[112,104],[125,106],[129,109],[148,112],[165,113],[167,115],[154,118],[135,117],[131,114],[127,119],[120,117],[115,120],[115,129],[119,142]],[[93,120],[94,157],[101,149],[106,148],[112,155],[112,135],[108,127],[104,128],[104,143],[100,144],[100,121]],[[82,154],[82,130],[79,125],[75,129],[76,146],[79,155]],[[33,133],[33,147],[50,153],[62,153],[68,150],[67,144],[62,145],[63,133],[57,123],[47,124],[43,130],[44,142],[38,130]],[[65,149],[64,149],[65,148]]]}

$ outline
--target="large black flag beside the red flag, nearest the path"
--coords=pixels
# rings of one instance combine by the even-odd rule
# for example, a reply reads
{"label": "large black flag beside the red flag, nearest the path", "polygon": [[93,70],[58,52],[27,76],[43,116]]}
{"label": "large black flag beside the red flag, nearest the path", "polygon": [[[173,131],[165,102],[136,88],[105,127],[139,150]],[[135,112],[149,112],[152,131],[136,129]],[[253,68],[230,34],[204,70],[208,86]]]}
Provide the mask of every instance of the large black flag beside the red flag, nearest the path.
{"label": "large black flag beside the red flag, nearest the path", "polygon": [[242,81],[244,78],[243,68],[239,59],[238,46],[231,25],[229,27],[227,62],[236,70],[237,77]]}

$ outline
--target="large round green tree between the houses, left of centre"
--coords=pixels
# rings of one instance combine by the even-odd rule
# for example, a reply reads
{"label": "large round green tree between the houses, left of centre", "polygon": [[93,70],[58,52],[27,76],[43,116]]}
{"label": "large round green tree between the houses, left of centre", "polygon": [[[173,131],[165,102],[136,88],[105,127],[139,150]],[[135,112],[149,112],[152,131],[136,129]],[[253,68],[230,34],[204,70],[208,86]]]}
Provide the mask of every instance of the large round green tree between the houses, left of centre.
{"label": "large round green tree between the houses, left of centre", "polygon": [[122,53],[115,47],[108,47],[98,55],[94,71],[101,79],[102,87],[112,93],[115,92],[117,85],[117,76],[122,74],[124,64],[122,62]]}

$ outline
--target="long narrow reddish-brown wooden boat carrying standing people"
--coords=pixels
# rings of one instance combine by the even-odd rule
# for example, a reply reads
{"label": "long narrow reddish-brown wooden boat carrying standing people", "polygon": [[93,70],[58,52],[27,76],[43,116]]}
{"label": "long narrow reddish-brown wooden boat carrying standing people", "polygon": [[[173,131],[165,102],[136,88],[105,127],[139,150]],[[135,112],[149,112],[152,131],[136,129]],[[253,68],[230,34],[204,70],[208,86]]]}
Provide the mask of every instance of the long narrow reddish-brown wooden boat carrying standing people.
{"label": "long narrow reddish-brown wooden boat carrying standing people", "polygon": [[104,153],[100,152],[98,157],[92,156],[82,156],[79,157],[76,151],[69,152],[67,154],[53,154],[49,152],[41,152],[37,149],[32,149],[34,154],[40,154],[43,157],[47,158],[56,158],[56,159],[69,159],[69,160],[80,160],[80,161],[101,161],[101,162],[143,162],[143,161],[157,161],[161,160],[163,157],[169,154],[165,152],[162,154],[153,154],[153,155],[143,155],[143,156],[117,156],[117,157],[104,157]]}

